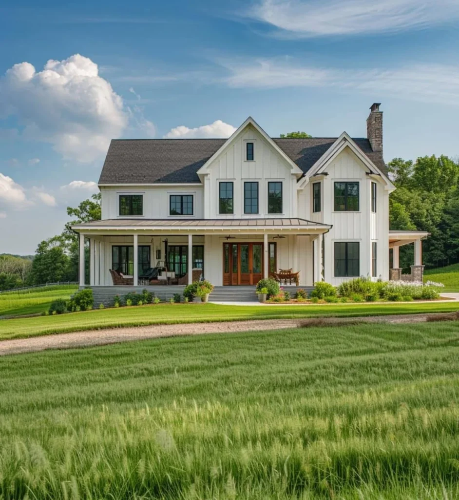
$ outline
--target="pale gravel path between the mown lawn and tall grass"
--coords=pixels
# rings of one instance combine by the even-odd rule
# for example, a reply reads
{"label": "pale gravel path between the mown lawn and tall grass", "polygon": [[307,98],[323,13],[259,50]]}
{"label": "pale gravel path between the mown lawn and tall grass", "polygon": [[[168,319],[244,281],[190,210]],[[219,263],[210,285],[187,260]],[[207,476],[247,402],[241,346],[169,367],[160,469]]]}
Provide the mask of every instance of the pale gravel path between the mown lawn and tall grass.
{"label": "pale gravel path between the mown lawn and tall grass", "polygon": [[[248,321],[226,321],[214,323],[157,324],[124,328],[106,328],[73,333],[57,333],[30,338],[16,338],[0,341],[0,356],[34,352],[45,349],[67,349],[89,347],[148,338],[174,337],[183,335],[203,335],[209,333],[235,333],[243,331],[277,330],[298,326],[336,326],[366,323],[413,323],[423,322],[432,314],[393,314],[386,316],[364,316],[348,318],[311,318],[311,319],[263,319]],[[436,314],[436,315],[448,315]]]}

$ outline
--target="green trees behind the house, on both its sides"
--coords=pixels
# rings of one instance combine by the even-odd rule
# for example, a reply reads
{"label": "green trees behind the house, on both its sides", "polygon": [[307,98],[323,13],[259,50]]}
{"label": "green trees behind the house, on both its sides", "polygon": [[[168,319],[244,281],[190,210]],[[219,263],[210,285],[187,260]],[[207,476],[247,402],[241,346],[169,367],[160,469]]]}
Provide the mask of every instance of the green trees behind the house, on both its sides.
{"label": "green trees behind the house, on both its sides", "polygon": [[[290,132],[287,137],[306,135]],[[459,262],[459,163],[444,155],[416,161],[394,158],[388,170],[397,187],[389,197],[390,228],[431,233],[423,242],[427,268]],[[61,234],[41,241],[33,259],[0,255],[0,290],[78,280],[78,235],[71,226],[100,220],[101,194],[67,207],[67,214],[73,219]],[[414,261],[413,251],[413,245],[400,248],[400,265],[407,271]],[[89,266],[85,268],[89,272]]]}

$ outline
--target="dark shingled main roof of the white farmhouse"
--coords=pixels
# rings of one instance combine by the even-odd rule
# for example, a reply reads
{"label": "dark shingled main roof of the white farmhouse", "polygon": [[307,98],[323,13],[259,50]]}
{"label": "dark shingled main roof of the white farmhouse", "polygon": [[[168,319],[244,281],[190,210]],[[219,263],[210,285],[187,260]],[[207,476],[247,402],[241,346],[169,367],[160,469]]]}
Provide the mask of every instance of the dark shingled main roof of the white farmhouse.
{"label": "dark shingled main roof of the white farmhouse", "polygon": [[[336,137],[272,139],[303,172],[322,156]],[[353,139],[370,160],[387,175],[383,155],[368,139]],[[150,184],[200,182],[197,171],[227,139],[113,139],[99,184]]]}

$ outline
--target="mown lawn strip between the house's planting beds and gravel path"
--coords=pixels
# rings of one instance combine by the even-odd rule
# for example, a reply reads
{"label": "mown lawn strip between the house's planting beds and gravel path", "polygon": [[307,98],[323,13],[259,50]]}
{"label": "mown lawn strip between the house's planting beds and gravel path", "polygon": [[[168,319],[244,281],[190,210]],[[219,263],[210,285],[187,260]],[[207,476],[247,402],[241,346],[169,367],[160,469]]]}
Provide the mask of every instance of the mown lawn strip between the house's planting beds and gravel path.
{"label": "mown lawn strip between the house's planting beds and gravel path", "polygon": [[367,316],[451,312],[458,302],[390,302],[384,304],[317,304],[317,305],[220,305],[157,304],[73,312],[57,316],[4,319],[0,321],[0,340],[47,333],[147,324],[174,324],[237,319],[282,319],[316,316]]}

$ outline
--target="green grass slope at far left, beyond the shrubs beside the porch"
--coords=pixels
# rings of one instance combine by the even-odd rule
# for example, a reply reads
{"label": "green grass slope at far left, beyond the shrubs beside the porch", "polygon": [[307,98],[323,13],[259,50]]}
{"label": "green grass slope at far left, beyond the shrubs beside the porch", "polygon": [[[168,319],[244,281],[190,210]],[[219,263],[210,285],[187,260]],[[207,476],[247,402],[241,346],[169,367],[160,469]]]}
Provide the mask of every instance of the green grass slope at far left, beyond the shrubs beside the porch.
{"label": "green grass slope at far left, beyond the shrubs beside the porch", "polygon": [[59,285],[2,292],[0,293],[0,316],[43,312],[48,310],[53,300],[68,299],[77,289],[77,285]]}

